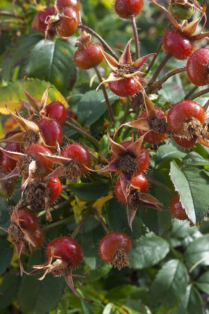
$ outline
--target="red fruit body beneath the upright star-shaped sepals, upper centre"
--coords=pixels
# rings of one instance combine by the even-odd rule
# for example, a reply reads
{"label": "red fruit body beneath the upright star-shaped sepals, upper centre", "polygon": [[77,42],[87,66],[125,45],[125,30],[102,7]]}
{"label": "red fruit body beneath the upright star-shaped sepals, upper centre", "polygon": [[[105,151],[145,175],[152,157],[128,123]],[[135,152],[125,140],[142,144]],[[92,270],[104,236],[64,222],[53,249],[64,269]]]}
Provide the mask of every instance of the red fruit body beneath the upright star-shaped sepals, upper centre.
{"label": "red fruit body beneath the upright star-shaped sepals, upper centre", "polygon": [[[141,83],[140,76],[136,76],[136,79]],[[108,82],[109,89],[120,97],[129,97],[136,94],[140,86],[135,78],[121,79],[119,81]]]}

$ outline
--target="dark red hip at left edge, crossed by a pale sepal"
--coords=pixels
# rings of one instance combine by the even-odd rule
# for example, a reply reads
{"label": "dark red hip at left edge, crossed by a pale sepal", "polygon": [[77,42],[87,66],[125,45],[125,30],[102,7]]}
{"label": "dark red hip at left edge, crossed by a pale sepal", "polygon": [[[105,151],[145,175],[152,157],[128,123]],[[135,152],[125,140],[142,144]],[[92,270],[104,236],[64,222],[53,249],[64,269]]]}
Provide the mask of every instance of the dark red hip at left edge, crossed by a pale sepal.
{"label": "dark red hip at left edge, crossed by a pale sepal", "polygon": [[[5,146],[4,149],[9,150],[11,152],[21,153],[22,150],[21,150],[20,145],[21,145],[20,143],[10,142]],[[17,160],[12,159],[5,154],[1,155],[0,165],[3,171],[10,173],[16,167],[16,163],[17,163]]]}

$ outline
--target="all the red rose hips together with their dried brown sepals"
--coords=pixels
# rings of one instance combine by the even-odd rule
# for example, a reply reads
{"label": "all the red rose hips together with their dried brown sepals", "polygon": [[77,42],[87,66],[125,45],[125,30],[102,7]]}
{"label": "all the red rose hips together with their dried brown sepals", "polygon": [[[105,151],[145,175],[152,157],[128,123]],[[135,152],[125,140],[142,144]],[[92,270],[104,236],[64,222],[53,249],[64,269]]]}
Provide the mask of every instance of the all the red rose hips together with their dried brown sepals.
{"label": "all the red rose hips together with their dried brown sepals", "polygon": [[[153,3],[157,4],[154,0]],[[116,0],[115,11],[121,18],[133,19],[142,9],[142,0]],[[209,49],[202,48],[193,52],[193,42],[206,37],[207,33],[196,34],[195,30],[205,15],[205,3],[201,8],[195,1],[188,1],[184,5],[171,1],[168,10],[160,6],[173,24],[174,30],[165,32],[162,44],[165,51],[173,57],[188,59],[186,72],[190,81],[198,86],[209,83]],[[201,17],[195,21],[179,24],[177,19],[187,20],[195,9],[201,12]],[[77,0],[56,0],[54,7],[47,7],[36,14],[32,30],[40,30],[53,38],[56,34],[68,37],[75,33],[80,25],[80,4]],[[142,145],[143,140],[151,144],[159,144],[168,136],[184,148],[192,148],[197,139],[205,142],[207,124],[205,111],[198,103],[183,100],[173,105],[168,114],[162,109],[155,108],[146,95],[142,86],[140,69],[155,53],[132,61],[130,43],[126,45],[121,57],[116,58],[105,52],[104,47],[92,43],[91,35],[84,29],[81,31],[75,46],[78,48],[74,54],[75,64],[82,69],[96,67],[106,60],[111,73],[100,84],[107,84],[109,89],[118,96],[131,97],[138,92],[143,95],[146,111],[136,120],[122,124],[137,129],[140,138],[134,141],[116,143],[110,138],[112,150],[111,160],[100,172],[114,171],[119,175],[115,184],[115,196],[126,204],[129,225],[132,228],[137,208],[141,205],[155,208],[162,204],[148,194],[149,185],[143,175],[149,164],[148,150]],[[198,75],[201,74],[201,75]],[[25,80],[25,78],[24,78]],[[8,229],[9,237],[15,244],[21,274],[25,272],[20,261],[21,252],[32,252],[42,246],[44,242],[43,230],[38,226],[38,219],[31,210],[46,210],[46,218],[51,221],[49,207],[57,201],[62,185],[58,177],[64,177],[76,182],[80,176],[87,174],[91,169],[91,154],[78,143],[68,144],[60,149],[63,143],[62,125],[67,118],[66,108],[62,103],[54,101],[47,105],[48,89],[44,92],[42,100],[32,97],[23,89],[27,98],[28,116],[26,118],[16,111],[9,111],[11,116],[19,123],[21,130],[8,133],[3,143],[7,143],[2,151],[0,167],[0,187],[3,197],[10,197],[15,190],[14,177],[22,177],[22,197],[14,208],[10,208],[11,224]],[[98,87],[99,87],[98,86]],[[24,130],[24,132],[22,132]],[[115,134],[118,130],[116,130]],[[209,145],[208,145],[209,146]],[[54,164],[59,166],[54,169]],[[25,194],[25,203],[23,195]],[[180,196],[176,194],[170,204],[171,214],[179,220],[188,220],[185,209],[180,203]],[[2,228],[3,229],[3,228]],[[110,232],[103,237],[99,244],[99,255],[102,260],[112,262],[119,270],[129,264],[127,253],[131,248],[130,238],[121,232]],[[73,237],[58,237],[47,245],[47,263],[35,265],[30,275],[47,273],[54,276],[64,276],[72,291],[77,295],[73,284],[73,268],[80,265],[83,259],[82,249]],[[26,273],[26,272],[25,272]],[[82,276],[81,276],[82,277]],[[80,297],[80,296],[79,296]],[[91,300],[84,299],[88,302]]]}

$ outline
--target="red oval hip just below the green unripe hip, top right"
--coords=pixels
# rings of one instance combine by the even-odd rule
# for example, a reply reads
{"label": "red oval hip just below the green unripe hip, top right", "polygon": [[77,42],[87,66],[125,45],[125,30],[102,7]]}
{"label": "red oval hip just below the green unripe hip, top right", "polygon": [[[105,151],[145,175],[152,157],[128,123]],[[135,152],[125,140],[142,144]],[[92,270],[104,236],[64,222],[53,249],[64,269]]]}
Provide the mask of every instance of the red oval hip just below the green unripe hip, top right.
{"label": "red oval hip just below the green unripe hip, top right", "polygon": [[169,52],[179,60],[189,58],[193,51],[193,46],[189,38],[173,30],[163,35],[162,44],[166,52]]}

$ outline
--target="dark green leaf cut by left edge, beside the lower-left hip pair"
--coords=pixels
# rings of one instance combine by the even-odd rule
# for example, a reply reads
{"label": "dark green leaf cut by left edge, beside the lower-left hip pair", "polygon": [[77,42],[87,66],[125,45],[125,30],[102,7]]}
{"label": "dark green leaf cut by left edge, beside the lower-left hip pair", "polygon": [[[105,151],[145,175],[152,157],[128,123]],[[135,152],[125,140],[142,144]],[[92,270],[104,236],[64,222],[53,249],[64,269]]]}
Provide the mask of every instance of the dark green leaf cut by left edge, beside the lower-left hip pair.
{"label": "dark green leaf cut by left edge, beside the lower-left hip pair", "polygon": [[13,257],[11,242],[0,239],[0,275],[7,269]]}

